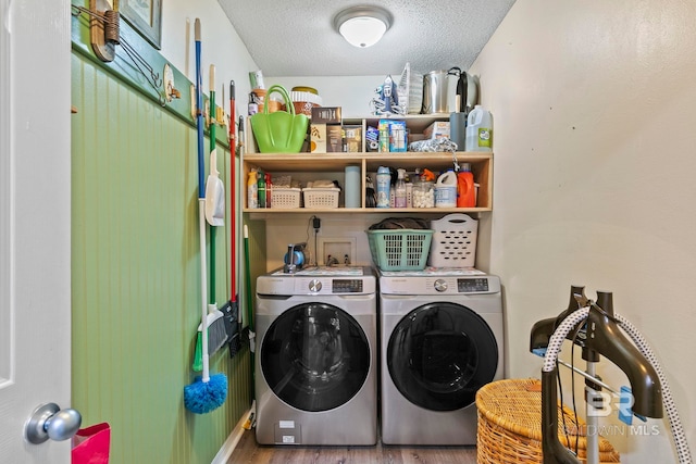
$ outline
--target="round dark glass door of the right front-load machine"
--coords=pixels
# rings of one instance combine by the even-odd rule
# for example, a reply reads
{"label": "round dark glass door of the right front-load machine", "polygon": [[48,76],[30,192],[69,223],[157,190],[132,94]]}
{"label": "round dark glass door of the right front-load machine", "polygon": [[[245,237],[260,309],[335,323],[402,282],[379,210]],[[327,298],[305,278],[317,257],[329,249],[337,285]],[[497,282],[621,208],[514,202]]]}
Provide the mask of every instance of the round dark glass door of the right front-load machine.
{"label": "round dark glass door of the right front-load machine", "polygon": [[456,411],[475,402],[494,379],[498,344],[488,324],[470,309],[428,303],[407,314],[387,346],[396,388],[430,411]]}

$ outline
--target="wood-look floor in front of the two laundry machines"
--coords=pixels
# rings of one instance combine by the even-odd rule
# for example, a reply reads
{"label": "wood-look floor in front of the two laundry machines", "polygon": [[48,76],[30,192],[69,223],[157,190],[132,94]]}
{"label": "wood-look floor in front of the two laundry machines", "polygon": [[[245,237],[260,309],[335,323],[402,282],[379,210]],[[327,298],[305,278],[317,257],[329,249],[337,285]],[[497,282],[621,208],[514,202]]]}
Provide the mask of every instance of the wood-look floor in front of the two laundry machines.
{"label": "wood-look floor in front of the two laundry machines", "polygon": [[245,430],[227,464],[475,464],[475,447],[269,447]]}

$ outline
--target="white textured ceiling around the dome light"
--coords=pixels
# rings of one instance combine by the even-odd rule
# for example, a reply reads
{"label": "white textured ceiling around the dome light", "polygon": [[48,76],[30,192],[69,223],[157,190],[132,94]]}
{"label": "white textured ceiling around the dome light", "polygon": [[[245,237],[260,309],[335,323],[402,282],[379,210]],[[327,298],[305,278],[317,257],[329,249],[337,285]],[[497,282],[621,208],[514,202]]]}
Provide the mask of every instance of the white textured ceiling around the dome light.
{"label": "white textured ceiling around the dome light", "polygon": [[514,0],[383,0],[391,28],[370,48],[352,47],[333,27],[360,0],[219,0],[266,76],[374,76],[459,66],[467,71]]}

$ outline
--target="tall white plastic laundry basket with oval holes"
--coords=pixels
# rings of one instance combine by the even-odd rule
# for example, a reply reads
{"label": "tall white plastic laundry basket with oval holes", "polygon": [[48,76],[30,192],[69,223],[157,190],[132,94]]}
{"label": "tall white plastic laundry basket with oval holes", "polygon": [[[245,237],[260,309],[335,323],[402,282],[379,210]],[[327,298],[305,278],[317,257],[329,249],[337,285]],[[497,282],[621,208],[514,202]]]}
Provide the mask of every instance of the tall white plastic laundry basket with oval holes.
{"label": "tall white plastic laundry basket with oval holes", "polygon": [[476,261],[478,221],[467,214],[453,213],[431,221],[433,241],[428,266],[473,267]]}

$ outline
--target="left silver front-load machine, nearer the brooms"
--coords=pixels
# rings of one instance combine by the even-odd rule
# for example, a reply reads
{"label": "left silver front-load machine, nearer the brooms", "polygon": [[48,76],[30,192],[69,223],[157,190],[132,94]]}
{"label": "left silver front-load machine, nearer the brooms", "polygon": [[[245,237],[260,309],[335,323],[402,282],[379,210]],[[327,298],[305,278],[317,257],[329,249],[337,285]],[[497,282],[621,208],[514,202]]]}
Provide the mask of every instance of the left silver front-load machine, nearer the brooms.
{"label": "left silver front-load machine, nearer the brooms", "polygon": [[375,444],[377,294],[370,267],[257,279],[257,441]]}

